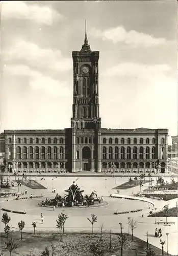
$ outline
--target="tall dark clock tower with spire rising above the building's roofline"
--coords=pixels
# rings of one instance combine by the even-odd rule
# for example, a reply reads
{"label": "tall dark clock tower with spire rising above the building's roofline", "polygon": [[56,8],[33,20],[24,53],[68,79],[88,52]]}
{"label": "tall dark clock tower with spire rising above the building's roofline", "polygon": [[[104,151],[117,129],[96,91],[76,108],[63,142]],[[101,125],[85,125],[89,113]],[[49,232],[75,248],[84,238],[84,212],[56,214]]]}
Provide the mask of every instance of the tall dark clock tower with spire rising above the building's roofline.
{"label": "tall dark clock tower with spire rising above the building's roofline", "polygon": [[72,52],[73,105],[71,127],[76,130],[100,129],[98,102],[99,52],[92,52],[85,32],[81,51]]}

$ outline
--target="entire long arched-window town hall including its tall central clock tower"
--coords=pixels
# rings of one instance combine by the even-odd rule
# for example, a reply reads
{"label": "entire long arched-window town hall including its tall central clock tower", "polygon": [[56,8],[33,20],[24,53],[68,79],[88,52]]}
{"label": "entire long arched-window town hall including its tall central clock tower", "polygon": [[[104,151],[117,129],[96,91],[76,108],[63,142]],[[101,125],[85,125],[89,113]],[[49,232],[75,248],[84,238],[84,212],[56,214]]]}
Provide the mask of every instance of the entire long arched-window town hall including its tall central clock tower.
{"label": "entire long arched-window town hall including its tall central clock tower", "polygon": [[85,33],[81,51],[72,52],[71,127],[64,130],[5,130],[8,172],[167,171],[167,129],[101,128],[99,52]]}

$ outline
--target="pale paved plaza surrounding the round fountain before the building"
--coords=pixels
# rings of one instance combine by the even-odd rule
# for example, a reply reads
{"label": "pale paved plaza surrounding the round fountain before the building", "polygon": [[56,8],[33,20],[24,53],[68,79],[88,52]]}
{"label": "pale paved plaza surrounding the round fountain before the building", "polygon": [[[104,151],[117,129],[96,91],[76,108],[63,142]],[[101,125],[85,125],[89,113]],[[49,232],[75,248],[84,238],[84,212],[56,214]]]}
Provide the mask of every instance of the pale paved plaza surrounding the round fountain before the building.
{"label": "pale paved plaza surrounding the round fountain before the building", "polygon": [[[55,195],[52,194],[52,188],[53,186],[56,188],[56,193],[60,195],[64,195],[64,189],[68,189],[68,187],[72,184],[73,180],[77,179],[79,177],[46,177],[45,180],[40,180],[39,177],[37,177],[37,181],[44,185],[47,189],[30,189],[28,190],[28,196],[30,194],[34,195],[41,195],[43,194],[44,198],[54,198]],[[10,178],[11,179],[11,178]],[[35,179],[35,178],[34,178]],[[156,180],[156,178],[155,178]],[[169,181],[169,178],[165,178],[165,181]],[[176,180],[176,179],[175,179]],[[122,178],[112,178],[112,177],[80,177],[77,181],[77,184],[79,187],[84,189],[84,194],[90,194],[92,190],[96,190],[98,196],[104,196],[104,201],[107,201],[109,205],[105,207],[99,207],[99,208],[56,208],[55,211],[53,211],[52,208],[48,207],[40,207],[38,203],[43,200],[43,198],[38,199],[23,199],[23,200],[13,200],[14,197],[9,197],[9,201],[5,201],[5,198],[1,199],[1,208],[7,208],[7,209],[16,209],[16,210],[26,210],[26,215],[17,215],[12,214],[11,212],[8,213],[11,217],[10,225],[13,227],[14,230],[17,230],[17,222],[20,220],[23,220],[26,223],[26,226],[24,227],[24,231],[33,231],[32,222],[37,222],[37,231],[45,232],[45,231],[58,231],[56,228],[56,219],[57,216],[64,212],[69,216],[65,223],[65,230],[67,232],[70,231],[90,231],[91,224],[87,220],[88,217],[90,217],[91,214],[95,214],[97,216],[97,222],[94,223],[94,230],[99,231],[99,227],[102,223],[104,223],[104,229],[109,231],[112,230],[113,232],[119,232],[120,231],[120,225],[119,222],[122,223],[122,226],[124,227],[123,232],[128,232],[129,225],[128,225],[128,217],[134,218],[137,220],[137,228],[134,230],[134,234],[136,237],[146,241],[147,236],[146,232],[148,232],[148,239],[149,243],[157,246],[161,249],[161,244],[159,241],[159,238],[154,237],[155,228],[162,229],[163,237],[162,240],[166,240],[166,232],[169,233],[168,236],[168,252],[172,255],[178,255],[178,221],[176,217],[170,217],[167,218],[167,221],[174,221],[175,225],[171,226],[164,226],[164,225],[155,225],[155,218],[154,217],[146,217],[149,213],[149,211],[152,209],[152,206],[146,202],[141,201],[132,201],[132,200],[124,200],[124,199],[116,199],[116,198],[110,198],[109,195],[111,193],[116,193],[117,190],[112,189],[116,187],[117,185],[120,185],[124,182],[128,181],[128,177],[122,177]],[[145,189],[148,186],[148,183],[144,184],[141,188],[142,190]],[[26,187],[21,186],[20,191],[24,190]],[[14,189],[17,189],[14,187]],[[136,194],[139,191],[139,186],[126,189],[126,190],[120,190],[120,194],[122,195],[132,195],[132,193]],[[13,200],[13,201],[12,201]],[[149,199],[150,200],[150,199]],[[169,202],[165,201],[159,201],[151,199],[152,202],[154,202],[155,207],[162,209],[162,207],[169,203],[169,207],[175,207],[177,199],[170,200]],[[148,208],[150,206],[150,209]],[[142,208],[143,210],[140,212],[134,212],[130,214],[123,214],[123,215],[113,215],[115,210],[132,210],[132,209],[139,209]],[[158,211],[157,210],[157,211]],[[44,216],[44,223],[41,224],[40,220],[40,214],[43,213]],[[143,214],[143,218],[141,215]],[[1,211],[2,215],[2,211]],[[157,217],[157,221],[165,220],[165,217]],[[1,231],[4,230],[4,224],[1,223]],[[164,250],[167,250],[167,240],[165,242]]]}

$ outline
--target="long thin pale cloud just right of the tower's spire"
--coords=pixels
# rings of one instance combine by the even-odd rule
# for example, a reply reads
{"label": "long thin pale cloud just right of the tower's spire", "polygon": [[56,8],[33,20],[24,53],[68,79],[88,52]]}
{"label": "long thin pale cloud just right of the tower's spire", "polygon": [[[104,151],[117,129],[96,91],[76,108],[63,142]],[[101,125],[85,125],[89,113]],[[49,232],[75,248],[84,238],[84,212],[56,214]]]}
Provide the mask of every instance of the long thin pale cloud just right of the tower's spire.
{"label": "long thin pale cloud just right of the tower's spire", "polygon": [[166,43],[165,38],[156,38],[153,35],[137,32],[135,30],[126,31],[121,26],[104,31],[93,28],[89,34],[95,38],[101,38],[104,41],[111,40],[113,44],[124,42],[126,45],[131,45],[133,47],[151,47]]}

